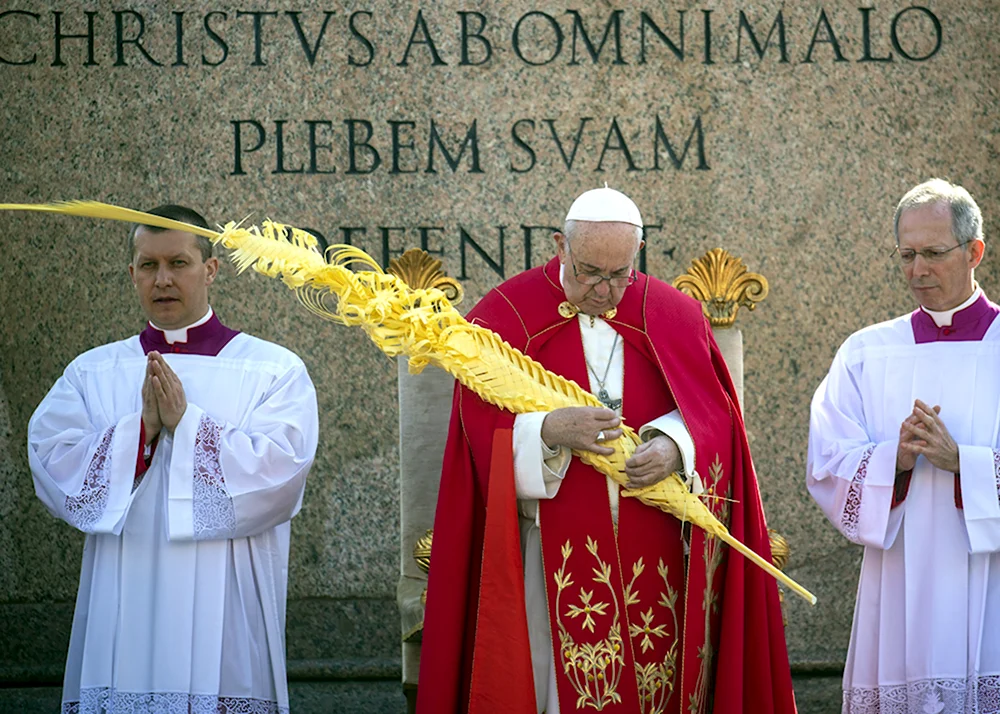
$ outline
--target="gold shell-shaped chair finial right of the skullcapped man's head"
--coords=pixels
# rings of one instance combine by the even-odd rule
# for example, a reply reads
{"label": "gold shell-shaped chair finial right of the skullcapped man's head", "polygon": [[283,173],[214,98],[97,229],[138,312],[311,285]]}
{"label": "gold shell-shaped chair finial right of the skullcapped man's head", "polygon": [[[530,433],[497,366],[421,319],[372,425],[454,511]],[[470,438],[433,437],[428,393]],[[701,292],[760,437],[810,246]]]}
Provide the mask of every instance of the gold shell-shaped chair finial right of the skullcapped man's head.
{"label": "gold shell-shaped chair finial right of the skullcapped man's head", "polygon": [[740,258],[713,248],[691,261],[691,267],[674,279],[674,287],[701,301],[712,327],[732,327],[740,307],[753,310],[767,297],[767,278],[751,273]]}

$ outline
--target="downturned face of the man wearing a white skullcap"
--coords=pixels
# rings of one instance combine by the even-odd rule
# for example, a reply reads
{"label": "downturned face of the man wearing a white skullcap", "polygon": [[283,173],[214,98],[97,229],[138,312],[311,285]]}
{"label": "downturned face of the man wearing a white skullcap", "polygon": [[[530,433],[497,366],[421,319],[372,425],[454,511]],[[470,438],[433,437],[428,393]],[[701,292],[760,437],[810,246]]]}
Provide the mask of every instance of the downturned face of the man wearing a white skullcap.
{"label": "downturned face of the man wearing a white skullcap", "polygon": [[628,288],[614,287],[607,280],[584,285],[576,276],[627,277],[642,247],[635,226],[581,221],[575,224],[571,237],[556,233],[555,240],[559,261],[564,266],[563,288],[567,300],[587,315],[600,315],[621,302]]}

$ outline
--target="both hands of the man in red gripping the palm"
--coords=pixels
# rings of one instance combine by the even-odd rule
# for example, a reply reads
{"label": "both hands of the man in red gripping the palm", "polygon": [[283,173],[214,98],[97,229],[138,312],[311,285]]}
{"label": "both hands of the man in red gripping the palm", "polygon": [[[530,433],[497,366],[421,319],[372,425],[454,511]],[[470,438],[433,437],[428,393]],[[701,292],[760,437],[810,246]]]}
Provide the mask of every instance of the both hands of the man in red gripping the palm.
{"label": "both hands of the man in red gripping the palm", "polygon": [[[615,452],[602,442],[622,435],[621,418],[607,407],[565,407],[550,412],[542,422],[542,441],[549,448],[565,446],[610,456]],[[639,444],[625,462],[628,488],[659,483],[682,466],[680,449],[673,439],[660,435]]]}

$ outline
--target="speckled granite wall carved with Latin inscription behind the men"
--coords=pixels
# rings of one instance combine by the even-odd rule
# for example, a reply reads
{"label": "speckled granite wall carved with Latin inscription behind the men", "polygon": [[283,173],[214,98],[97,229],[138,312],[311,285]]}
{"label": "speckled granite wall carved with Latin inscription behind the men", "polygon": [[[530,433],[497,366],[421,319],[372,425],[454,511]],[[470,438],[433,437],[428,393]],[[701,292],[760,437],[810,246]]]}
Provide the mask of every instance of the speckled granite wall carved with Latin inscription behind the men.
{"label": "speckled granite wall carved with Latin inscription behind the men", "polygon": [[[423,247],[463,280],[466,307],[546,260],[573,197],[604,182],[643,212],[648,272],[672,278],[716,246],[743,257],[771,286],[739,322],[751,446],[789,571],[820,599],[786,599],[790,654],[803,675],[836,676],[860,551],[806,493],[809,399],[844,338],[913,307],[888,256],[911,185],[943,176],[979,200],[978,276],[1000,296],[998,38],[990,0],[11,0],[0,201],[186,203],[382,262]],[[125,235],[0,215],[6,681],[59,678],[82,538],[35,499],[23,445],[65,365],[142,326]],[[227,267],[213,305],[300,354],[319,391],[292,676],[392,677],[395,365],[276,281]]]}

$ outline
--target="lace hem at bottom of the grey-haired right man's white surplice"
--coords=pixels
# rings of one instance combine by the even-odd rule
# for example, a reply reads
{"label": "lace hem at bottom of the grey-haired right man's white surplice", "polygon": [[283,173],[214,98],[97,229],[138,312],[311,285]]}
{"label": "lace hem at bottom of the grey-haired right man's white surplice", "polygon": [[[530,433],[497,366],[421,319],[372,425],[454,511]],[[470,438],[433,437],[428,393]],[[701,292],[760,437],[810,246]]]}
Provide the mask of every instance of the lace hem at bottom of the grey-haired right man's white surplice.
{"label": "lace hem at bottom of the grey-haired right man's white surplice", "polygon": [[1000,712],[1000,675],[921,679],[844,691],[842,714],[995,714]]}

